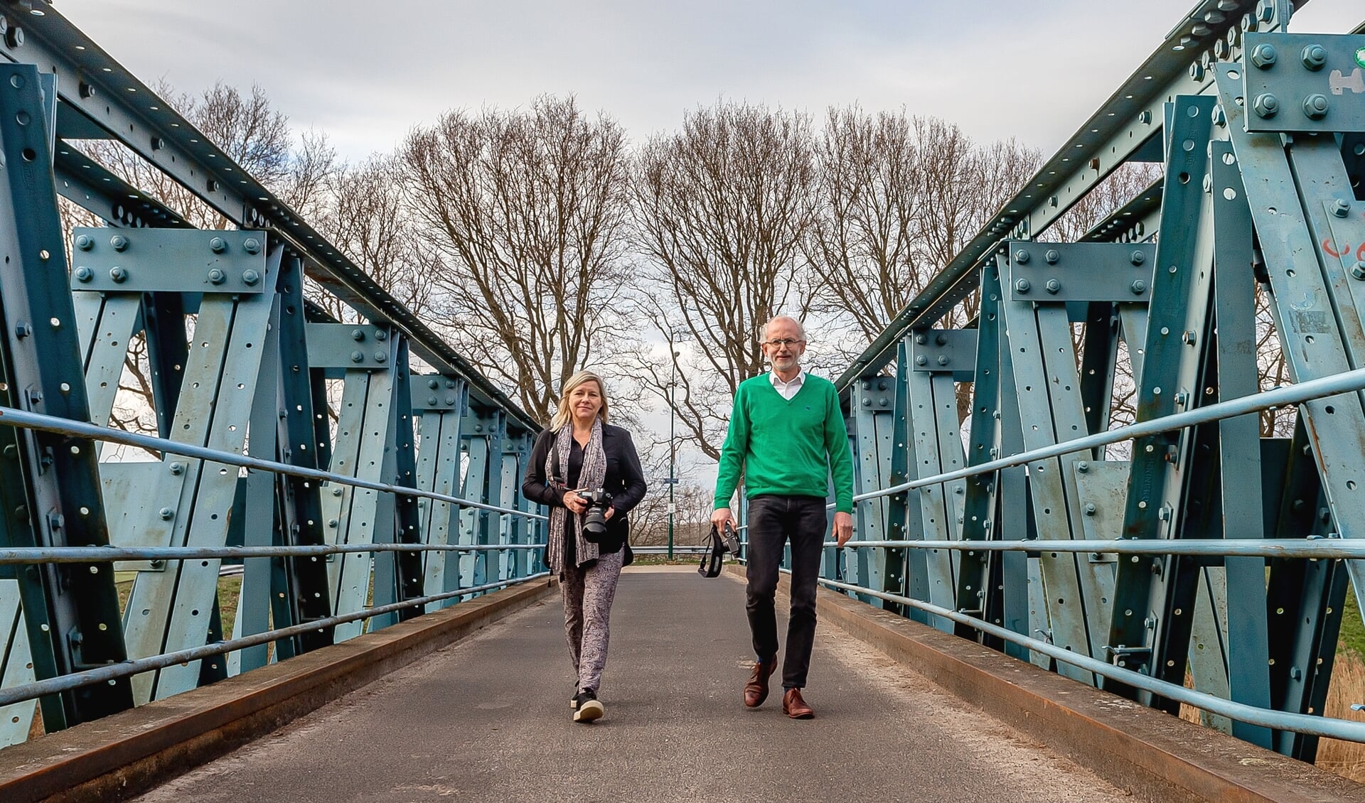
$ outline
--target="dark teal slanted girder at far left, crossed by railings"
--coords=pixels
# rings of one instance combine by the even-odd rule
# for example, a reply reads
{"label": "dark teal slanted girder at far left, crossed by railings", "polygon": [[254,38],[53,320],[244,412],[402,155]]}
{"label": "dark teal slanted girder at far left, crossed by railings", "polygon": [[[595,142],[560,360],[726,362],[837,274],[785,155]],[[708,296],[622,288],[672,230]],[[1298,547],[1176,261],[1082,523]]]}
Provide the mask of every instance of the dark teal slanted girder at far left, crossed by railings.
{"label": "dark teal slanted girder at far left, crossed by railings", "polygon": [[[52,180],[52,82],[40,79],[33,65],[7,64],[0,68],[0,87],[5,165],[0,170],[0,251],[5,255],[0,263],[0,401],[85,421],[89,402]],[[109,543],[89,440],[4,428],[0,487],[0,541]],[[18,571],[12,579],[18,588],[5,585],[0,594],[22,605],[35,676],[126,660],[112,564],[48,564]],[[87,687],[44,699],[44,725],[55,731],[131,705],[126,680]]]}

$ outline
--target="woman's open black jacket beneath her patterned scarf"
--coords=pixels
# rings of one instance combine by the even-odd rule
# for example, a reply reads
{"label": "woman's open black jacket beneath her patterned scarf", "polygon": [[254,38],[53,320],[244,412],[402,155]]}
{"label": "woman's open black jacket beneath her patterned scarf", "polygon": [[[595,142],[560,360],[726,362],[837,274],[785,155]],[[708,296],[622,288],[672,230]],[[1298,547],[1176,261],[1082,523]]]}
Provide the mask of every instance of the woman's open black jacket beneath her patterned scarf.
{"label": "woman's open black jacket beneath her patterned scarf", "polygon": [[[572,424],[566,424],[572,425]],[[531,449],[531,459],[527,461],[526,476],[521,479],[521,495],[532,502],[541,502],[550,507],[564,507],[564,494],[576,485],[565,484],[577,479],[579,461],[575,466],[557,466],[557,477],[545,476],[545,458],[554,449],[557,434],[545,429],[535,439]],[[575,444],[573,451],[577,451]],[[610,424],[602,425],[602,451],[606,453],[606,480],[603,489],[612,495],[612,507],[616,513],[606,522],[606,537],[598,544],[598,551],[603,555],[618,552],[627,543],[631,532],[627,513],[644,499],[644,470],[640,468],[640,455],[635,451],[631,434],[621,427]],[[573,468],[575,470],[568,470]]]}

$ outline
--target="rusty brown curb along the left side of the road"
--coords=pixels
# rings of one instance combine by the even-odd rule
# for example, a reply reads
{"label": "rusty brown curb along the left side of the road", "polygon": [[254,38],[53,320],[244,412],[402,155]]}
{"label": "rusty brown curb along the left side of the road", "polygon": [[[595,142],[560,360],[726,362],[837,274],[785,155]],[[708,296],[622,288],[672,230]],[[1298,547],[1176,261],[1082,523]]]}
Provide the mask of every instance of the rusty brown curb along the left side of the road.
{"label": "rusty brown curb along the left side of the road", "polygon": [[547,596],[534,581],[0,750],[5,803],[126,800]]}

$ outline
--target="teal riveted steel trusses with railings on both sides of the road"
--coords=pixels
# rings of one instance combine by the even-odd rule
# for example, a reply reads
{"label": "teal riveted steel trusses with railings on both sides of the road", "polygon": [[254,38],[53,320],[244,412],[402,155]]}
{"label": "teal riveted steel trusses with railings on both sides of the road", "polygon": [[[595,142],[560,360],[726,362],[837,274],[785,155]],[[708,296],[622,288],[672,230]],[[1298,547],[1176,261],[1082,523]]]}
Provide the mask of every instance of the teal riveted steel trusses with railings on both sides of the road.
{"label": "teal riveted steel trusses with railings on both sides of the road", "polygon": [[[1312,761],[1365,742],[1321,716],[1365,585],[1365,34],[1290,33],[1294,7],[1198,3],[842,375],[859,541],[824,582]],[[543,577],[536,424],[52,7],[0,8],[0,744],[38,706],[60,731]],[[1129,162],[1164,177],[1048,241]],[[108,226],[68,241],[59,195]],[[1294,378],[1265,393],[1257,292]],[[106,427],[139,334],[158,438]]]}

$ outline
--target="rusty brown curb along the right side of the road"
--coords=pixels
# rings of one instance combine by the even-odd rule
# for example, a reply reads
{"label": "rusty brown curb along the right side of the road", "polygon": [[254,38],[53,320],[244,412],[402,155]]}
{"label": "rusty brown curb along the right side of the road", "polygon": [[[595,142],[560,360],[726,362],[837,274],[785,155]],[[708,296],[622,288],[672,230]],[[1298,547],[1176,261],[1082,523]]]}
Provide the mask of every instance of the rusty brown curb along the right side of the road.
{"label": "rusty brown curb along the right side of the road", "polygon": [[[729,567],[741,581],[744,567]],[[782,577],[781,590],[789,578]],[[822,588],[818,615],[1140,799],[1365,800],[1365,785]]]}

